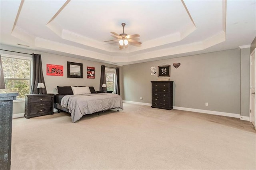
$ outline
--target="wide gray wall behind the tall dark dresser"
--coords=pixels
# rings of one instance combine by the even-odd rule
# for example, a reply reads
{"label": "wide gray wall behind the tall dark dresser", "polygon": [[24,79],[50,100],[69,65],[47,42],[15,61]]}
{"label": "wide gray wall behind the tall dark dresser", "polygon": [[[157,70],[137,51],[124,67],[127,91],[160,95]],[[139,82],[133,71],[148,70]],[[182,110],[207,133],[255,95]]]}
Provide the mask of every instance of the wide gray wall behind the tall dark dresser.
{"label": "wide gray wall behind the tall dark dresser", "polygon": [[[181,63],[176,69],[173,63]],[[122,68],[122,97],[126,101],[151,103],[150,67],[171,65],[176,107],[240,114],[240,70],[238,49],[150,61]],[[143,100],[140,100],[143,97]],[[205,103],[208,102],[208,106]]]}

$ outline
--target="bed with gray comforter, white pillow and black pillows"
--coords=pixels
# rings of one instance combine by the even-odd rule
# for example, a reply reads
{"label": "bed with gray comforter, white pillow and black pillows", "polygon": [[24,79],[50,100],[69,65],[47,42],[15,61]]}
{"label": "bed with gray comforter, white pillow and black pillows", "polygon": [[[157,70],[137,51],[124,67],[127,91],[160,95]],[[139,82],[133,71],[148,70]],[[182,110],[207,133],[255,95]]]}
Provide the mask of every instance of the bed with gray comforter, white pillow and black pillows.
{"label": "bed with gray comforter, white pillow and black pillows", "polygon": [[83,115],[109,109],[124,109],[122,98],[118,94],[96,93],[93,87],[87,88],[87,90],[82,87],[57,87],[59,94],[54,95],[54,108],[58,109],[58,113],[60,111],[70,113],[73,123],[80,120]]}

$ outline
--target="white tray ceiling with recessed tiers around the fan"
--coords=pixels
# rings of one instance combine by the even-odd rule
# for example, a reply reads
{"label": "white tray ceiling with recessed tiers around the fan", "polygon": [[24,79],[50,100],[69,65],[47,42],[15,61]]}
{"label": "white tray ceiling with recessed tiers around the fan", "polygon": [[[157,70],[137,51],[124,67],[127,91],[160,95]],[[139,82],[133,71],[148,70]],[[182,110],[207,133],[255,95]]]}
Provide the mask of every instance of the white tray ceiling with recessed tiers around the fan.
{"label": "white tray ceiling with recessed tiers around the fan", "polygon": [[[123,22],[140,47],[104,43]],[[1,44],[126,65],[249,45],[256,0],[0,0],[0,36]]]}

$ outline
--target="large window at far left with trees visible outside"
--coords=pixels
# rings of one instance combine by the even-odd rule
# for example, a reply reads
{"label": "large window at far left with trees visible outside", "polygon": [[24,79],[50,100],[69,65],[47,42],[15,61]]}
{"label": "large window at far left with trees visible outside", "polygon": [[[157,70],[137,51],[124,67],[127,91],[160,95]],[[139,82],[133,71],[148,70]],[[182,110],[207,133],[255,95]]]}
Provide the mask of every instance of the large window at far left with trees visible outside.
{"label": "large window at far left with trees visible outside", "polygon": [[6,89],[18,92],[17,99],[24,99],[30,90],[32,58],[7,54],[1,58]]}

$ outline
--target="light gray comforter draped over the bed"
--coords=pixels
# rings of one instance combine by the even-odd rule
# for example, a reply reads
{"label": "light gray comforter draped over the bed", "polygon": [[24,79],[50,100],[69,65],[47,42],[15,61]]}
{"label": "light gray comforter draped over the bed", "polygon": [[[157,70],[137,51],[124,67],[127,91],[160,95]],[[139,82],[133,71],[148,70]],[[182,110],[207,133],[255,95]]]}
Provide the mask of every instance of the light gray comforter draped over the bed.
{"label": "light gray comforter draped over the bed", "polygon": [[113,108],[124,109],[120,95],[112,93],[66,95],[62,98],[60,105],[69,109],[73,123],[83,115]]}

